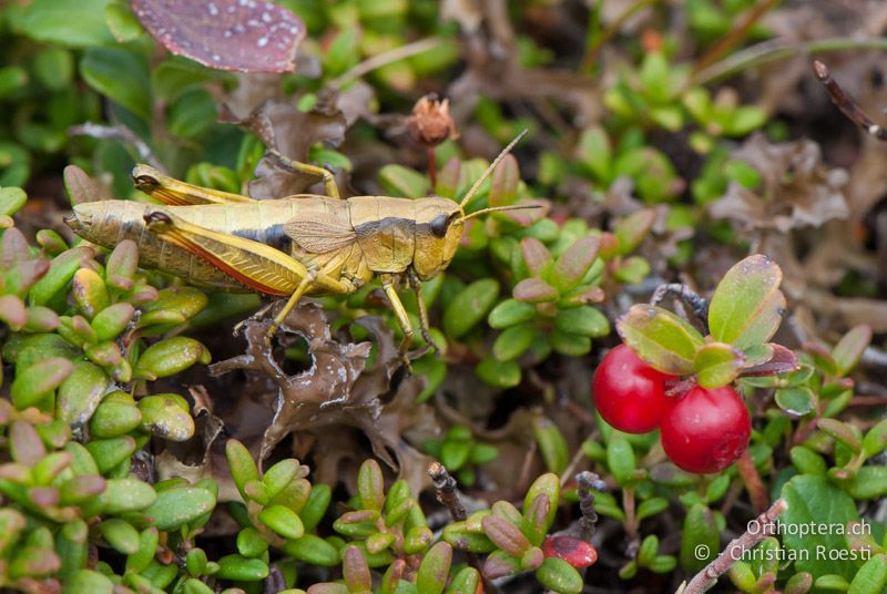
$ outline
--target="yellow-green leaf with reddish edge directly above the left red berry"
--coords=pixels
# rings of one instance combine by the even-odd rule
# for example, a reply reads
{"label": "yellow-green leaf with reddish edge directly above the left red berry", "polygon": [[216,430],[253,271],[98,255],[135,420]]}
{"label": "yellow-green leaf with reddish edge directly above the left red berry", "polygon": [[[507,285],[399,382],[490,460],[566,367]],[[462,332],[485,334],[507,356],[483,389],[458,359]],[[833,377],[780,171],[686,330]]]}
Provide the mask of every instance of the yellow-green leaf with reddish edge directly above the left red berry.
{"label": "yellow-green leaf with reddish edge directly above the left red berry", "polygon": [[641,359],[663,373],[683,376],[695,370],[702,335],[671,311],[654,305],[634,305],[616,321],[622,340]]}

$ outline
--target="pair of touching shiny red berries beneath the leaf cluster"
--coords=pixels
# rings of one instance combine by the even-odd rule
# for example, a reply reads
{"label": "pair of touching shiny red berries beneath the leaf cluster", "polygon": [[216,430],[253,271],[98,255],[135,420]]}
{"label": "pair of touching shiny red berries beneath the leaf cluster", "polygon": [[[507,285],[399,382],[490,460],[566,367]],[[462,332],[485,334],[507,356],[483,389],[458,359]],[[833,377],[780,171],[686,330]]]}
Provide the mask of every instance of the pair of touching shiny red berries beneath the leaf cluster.
{"label": "pair of touching shiny red berries beneath the leaf cluster", "polygon": [[592,380],[594,404],[620,431],[660,428],[662,448],[679,468],[707,474],[735,462],[748,445],[752,420],[733,388],[694,386],[666,396],[677,378],[646,365],[625,345],[608,352]]}

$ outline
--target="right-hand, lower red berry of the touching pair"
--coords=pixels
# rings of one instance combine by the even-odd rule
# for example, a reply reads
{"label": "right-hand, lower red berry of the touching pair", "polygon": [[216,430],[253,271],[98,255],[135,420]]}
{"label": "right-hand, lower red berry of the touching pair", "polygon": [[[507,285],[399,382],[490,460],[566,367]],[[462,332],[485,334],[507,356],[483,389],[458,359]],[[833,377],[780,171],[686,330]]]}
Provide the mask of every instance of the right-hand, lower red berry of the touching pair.
{"label": "right-hand, lower red berry of the touching pair", "polygon": [[707,474],[735,462],[748,447],[752,419],[728,387],[696,386],[672,407],[660,427],[662,447],[679,468]]}

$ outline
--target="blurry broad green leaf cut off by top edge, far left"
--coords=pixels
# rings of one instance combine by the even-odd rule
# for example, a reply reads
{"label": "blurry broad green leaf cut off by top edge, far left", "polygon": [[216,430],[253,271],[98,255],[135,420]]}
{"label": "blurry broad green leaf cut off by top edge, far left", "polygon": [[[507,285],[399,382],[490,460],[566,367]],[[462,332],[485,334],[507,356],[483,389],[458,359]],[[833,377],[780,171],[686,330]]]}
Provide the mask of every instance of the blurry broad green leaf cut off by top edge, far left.
{"label": "blurry broad green leaf cut off by top edge, far left", "polygon": [[111,0],[33,0],[21,20],[21,31],[38,41],[86,48],[112,43],[104,20]]}

